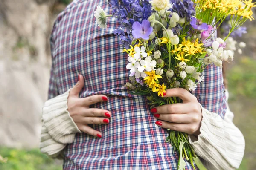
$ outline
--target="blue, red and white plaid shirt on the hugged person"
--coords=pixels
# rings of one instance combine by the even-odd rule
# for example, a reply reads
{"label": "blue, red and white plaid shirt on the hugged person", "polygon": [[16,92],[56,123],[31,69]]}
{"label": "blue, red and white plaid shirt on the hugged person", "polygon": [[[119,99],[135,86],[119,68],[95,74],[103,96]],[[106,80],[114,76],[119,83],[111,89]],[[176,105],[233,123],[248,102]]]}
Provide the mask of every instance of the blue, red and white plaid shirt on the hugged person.
{"label": "blue, red and white plaid shirt on the hugged person", "polygon": [[[85,84],[80,93],[108,95],[108,102],[92,107],[111,111],[108,125],[92,125],[102,138],[78,133],[64,149],[64,170],[94,169],[171,169],[177,168],[178,155],[165,143],[168,133],[155,124],[144,96],[128,93],[127,55],[122,53],[119,28],[115,18],[108,18],[108,28],[100,29],[93,12],[100,5],[109,14],[107,0],[74,0],[58,15],[51,36],[52,69],[49,98],[63,94],[77,82],[78,74]],[[194,95],[203,107],[222,117],[226,111],[221,69],[208,66],[205,81]],[[186,162],[186,170],[192,170]]]}

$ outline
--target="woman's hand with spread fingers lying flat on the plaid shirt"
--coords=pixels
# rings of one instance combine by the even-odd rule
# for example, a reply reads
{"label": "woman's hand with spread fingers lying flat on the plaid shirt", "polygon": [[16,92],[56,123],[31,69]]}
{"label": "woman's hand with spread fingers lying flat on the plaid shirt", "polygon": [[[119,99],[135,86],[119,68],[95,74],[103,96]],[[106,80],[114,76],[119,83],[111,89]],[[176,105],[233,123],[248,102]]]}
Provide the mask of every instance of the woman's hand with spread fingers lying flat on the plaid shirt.
{"label": "woman's hand with spread fingers lying flat on the plaid shirt", "polygon": [[67,110],[79,130],[101,138],[102,133],[89,127],[88,124],[108,124],[111,112],[104,109],[90,108],[90,105],[108,101],[108,98],[105,95],[93,95],[87,98],[79,98],[79,92],[83,87],[84,78],[82,75],[79,75],[78,82],[70,90],[67,99]]}

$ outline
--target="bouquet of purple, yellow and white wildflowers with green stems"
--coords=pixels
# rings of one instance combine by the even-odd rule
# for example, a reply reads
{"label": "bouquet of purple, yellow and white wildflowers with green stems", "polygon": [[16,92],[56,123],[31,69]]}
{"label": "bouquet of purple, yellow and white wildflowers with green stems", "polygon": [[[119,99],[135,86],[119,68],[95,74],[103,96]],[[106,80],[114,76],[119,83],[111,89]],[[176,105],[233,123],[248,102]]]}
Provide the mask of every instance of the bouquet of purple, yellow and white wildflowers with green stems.
{"label": "bouquet of purple, yellow and white wildflowers with green stems", "polygon": [[[217,23],[229,17],[227,37],[243,23],[252,20],[252,0],[108,0],[112,14],[97,6],[96,22],[107,27],[107,17],[116,17],[120,29],[114,34],[127,53],[130,82],[125,84],[136,95],[147,95],[151,108],[182,103],[180,98],[163,98],[166,89],[196,89],[204,81],[207,65],[221,67],[232,61],[233,52],[225,50],[221,38],[213,39]],[[227,38],[226,37],[226,38]],[[169,131],[166,138],[180,154],[178,169],[184,160],[193,165],[195,152],[188,135]],[[194,167],[195,169],[195,167]]]}

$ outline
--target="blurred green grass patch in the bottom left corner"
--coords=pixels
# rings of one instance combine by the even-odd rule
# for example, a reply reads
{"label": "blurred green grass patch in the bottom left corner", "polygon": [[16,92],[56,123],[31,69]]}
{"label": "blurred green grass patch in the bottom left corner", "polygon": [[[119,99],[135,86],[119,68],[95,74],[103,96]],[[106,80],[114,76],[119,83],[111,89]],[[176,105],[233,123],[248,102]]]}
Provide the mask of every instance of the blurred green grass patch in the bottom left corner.
{"label": "blurred green grass patch in the bottom left corner", "polygon": [[62,170],[60,164],[38,149],[18,150],[0,147],[0,155],[8,158],[6,163],[0,162],[0,170]]}

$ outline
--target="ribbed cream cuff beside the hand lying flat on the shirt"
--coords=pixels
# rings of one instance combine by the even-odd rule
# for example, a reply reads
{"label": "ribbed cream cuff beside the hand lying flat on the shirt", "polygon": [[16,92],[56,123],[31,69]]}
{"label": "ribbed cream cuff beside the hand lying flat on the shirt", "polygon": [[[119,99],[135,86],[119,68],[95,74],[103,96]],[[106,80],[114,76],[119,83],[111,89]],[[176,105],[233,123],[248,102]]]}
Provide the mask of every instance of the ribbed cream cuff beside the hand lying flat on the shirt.
{"label": "ribbed cream cuff beside the hand lying flat on the shirt", "polygon": [[81,132],[67,111],[67,98],[71,89],[45,102],[42,121],[52,139],[68,144],[74,141],[74,134]]}

